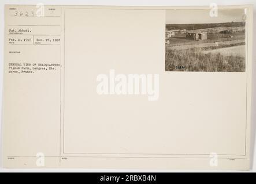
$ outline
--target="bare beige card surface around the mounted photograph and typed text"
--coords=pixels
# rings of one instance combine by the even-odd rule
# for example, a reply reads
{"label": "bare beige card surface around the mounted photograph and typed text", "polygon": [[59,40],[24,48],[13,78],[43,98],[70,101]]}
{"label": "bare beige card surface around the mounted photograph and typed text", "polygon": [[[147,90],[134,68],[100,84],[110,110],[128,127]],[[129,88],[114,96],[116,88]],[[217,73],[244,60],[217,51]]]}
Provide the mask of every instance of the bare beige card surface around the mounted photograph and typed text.
{"label": "bare beige card surface around the mounted photograph and typed text", "polygon": [[[47,6],[54,14],[25,20],[10,16],[13,6],[5,7],[5,167],[36,167],[42,152],[45,167],[249,168],[251,6],[221,7],[248,10],[246,72],[165,71],[165,9],[173,7]],[[28,23],[61,43],[9,45],[10,26]],[[62,67],[8,73],[10,62],[35,61]],[[97,75],[111,69],[159,74],[158,101],[97,94]]]}

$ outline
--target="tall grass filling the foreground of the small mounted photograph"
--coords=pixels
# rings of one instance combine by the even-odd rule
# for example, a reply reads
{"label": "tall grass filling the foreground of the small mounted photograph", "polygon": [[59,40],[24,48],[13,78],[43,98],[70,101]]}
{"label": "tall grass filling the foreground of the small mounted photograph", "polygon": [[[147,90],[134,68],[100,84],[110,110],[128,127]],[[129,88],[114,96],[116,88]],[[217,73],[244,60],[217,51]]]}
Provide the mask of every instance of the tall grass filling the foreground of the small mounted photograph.
{"label": "tall grass filling the foreground of the small mounted photograph", "polygon": [[243,72],[245,58],[220,52],[203,53],[201,49],[170,49],[165,53],[165,71]]}

